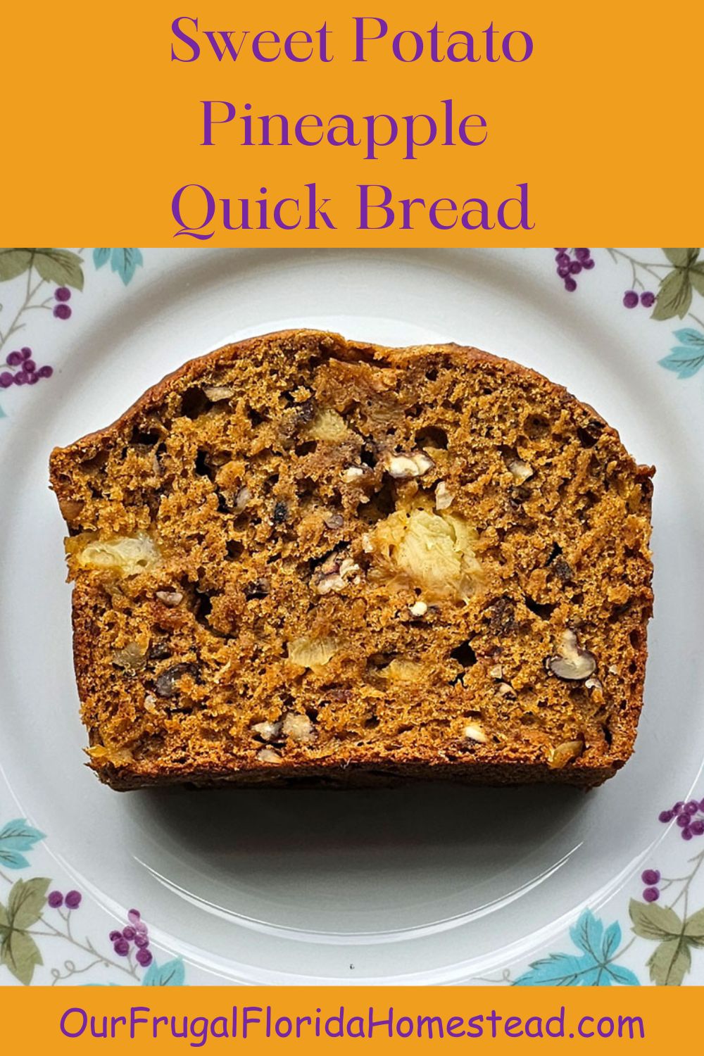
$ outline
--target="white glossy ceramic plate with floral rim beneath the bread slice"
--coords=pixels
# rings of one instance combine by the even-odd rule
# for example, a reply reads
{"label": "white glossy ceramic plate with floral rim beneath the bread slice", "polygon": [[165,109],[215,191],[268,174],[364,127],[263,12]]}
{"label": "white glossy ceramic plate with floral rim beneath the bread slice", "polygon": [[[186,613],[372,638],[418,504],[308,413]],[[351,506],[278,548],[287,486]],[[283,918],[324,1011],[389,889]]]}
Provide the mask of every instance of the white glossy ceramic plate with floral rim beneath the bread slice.
{"label": "white glossy ceramic plate with floral rim beneath the bread slice", "polygon": [[[704,748],[695,251],[593,250],[572,291],[551,249],[78,252],[39,250],[26,267],[0,252],[0,361],[24,346],[54,369],[22,385],[22,364],[0,367],[0,903],[21,882],[39,907],[0,982],[645,983],[655,953],[653,981],[704,983],[693,939],[668,961],[647,937],[663,906],[679,919],[704,904],[701,812],[691,840],[659,821],[697,795]],[[660,290],[654,314],[668,316],[676,285],[682,319],[623,303]],[[82,766],[49,452],[184,360],[296,325],[509,356],[592,403],[658,467],[646,708],[634,757],[602,789],[117,794]]]}

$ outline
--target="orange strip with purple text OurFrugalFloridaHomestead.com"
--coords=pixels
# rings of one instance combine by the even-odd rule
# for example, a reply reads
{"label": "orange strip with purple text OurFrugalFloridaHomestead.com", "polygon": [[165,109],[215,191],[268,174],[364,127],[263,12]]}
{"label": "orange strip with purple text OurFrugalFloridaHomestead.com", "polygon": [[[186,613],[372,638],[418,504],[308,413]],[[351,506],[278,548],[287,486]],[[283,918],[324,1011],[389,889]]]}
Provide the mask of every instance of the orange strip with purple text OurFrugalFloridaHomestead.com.
{"label": "orange strip with purple text OurFrugalFloridaHomestead.com", "polygon": [[699,1041],[696,987],[150,987],[0,991],[6,1052],[662,1053]]}

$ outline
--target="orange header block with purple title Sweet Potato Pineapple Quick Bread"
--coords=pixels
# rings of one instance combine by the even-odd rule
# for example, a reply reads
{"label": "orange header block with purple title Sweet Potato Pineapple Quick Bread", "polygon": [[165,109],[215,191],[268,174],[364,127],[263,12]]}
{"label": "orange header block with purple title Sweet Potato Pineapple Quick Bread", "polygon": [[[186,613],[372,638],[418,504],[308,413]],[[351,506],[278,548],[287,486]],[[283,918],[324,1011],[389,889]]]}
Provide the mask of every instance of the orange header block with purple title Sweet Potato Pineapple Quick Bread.
{"label": "orange header block with purple title Sweet Potato Pineapple Quick Bread", "polygon": [[695,0],[34,0],[2,29],[4,244],[704,238]]}

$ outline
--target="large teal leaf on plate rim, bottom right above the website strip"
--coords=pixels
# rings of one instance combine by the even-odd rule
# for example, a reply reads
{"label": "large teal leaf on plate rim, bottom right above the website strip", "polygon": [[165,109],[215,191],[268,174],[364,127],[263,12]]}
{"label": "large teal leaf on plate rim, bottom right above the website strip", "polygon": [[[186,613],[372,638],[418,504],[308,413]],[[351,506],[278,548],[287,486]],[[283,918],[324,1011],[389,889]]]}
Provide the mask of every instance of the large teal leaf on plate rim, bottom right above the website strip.
{"label": "large teal leaf on plate rim, bottom right above the website strip", "polygon": [[551,954],[533,961],[528,972],[519,976],[514,986],[638,986],[636,976],[613,963],[621,945],[621,926],[614,921],[606,929],[589,909],[570,928],[570,938],[581,951]]}

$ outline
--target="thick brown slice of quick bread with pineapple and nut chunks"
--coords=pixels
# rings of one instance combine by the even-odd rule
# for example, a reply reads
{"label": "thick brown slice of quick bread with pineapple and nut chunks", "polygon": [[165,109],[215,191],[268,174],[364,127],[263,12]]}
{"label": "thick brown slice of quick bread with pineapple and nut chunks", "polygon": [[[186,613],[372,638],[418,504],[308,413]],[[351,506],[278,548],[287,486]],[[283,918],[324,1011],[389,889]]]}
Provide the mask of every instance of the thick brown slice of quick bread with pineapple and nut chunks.
{"label": "thick brown slice of quick bread with pineapple and nut chunks", "polygon": [[56,449],[90,765],[597,785],[630,755],[653,470],[476,348],[288,331]]}

